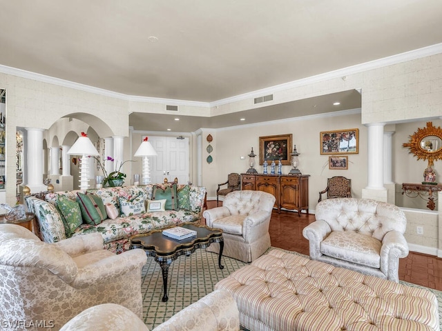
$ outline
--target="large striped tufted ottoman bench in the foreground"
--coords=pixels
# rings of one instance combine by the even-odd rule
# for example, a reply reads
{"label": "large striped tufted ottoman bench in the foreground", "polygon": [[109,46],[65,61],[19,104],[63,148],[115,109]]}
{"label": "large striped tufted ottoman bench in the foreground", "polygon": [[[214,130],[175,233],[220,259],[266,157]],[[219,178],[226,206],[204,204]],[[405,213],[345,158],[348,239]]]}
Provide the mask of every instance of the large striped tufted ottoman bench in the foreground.
{"label": "large striped tufted ottoman bench in the foreground", "polygon": [[249,330],[439,330],[432,292],[271,250],[215,285]]}

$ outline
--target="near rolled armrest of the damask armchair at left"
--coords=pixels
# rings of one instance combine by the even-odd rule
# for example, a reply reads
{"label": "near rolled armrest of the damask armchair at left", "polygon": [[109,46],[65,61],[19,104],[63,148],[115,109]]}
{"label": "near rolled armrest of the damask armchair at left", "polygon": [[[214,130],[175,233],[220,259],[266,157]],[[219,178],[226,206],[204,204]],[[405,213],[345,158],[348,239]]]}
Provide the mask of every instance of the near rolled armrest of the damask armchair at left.
{"label": "near rolled armrest of the damask armchair at left", "polygon": [[146,264],[146,252],[142,249],[128,250],[122,254],[106,257],[84,268],[79,268],[77,277],[70,283],[73,288],[87,288],[91,283],[112,281],[115,274],[125,274]]}

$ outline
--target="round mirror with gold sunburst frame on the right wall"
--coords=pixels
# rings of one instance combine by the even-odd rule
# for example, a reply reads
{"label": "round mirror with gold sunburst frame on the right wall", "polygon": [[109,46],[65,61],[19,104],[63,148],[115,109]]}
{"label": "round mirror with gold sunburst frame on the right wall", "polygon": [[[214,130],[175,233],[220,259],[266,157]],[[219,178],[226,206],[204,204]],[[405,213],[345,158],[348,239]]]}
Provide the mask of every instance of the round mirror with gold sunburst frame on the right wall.
{"label": "round mirror with gold sunburst frame on the right wall", "polygon": [[418,128],[410,136],[410,142],[404,143],[403,147],[410,148],[418,160],[428,160],[428,167],[432,167],[434,161],[442,159],[442,129],[427,122],[426,128]]}

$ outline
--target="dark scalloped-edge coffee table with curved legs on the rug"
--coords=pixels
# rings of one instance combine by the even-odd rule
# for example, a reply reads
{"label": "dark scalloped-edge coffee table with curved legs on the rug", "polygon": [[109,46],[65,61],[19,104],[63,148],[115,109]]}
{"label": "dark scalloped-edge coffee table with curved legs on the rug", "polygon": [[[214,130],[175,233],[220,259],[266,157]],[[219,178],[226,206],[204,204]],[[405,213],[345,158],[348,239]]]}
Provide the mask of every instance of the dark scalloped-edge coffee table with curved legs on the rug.
{"label": "dark scalloped-edge coffee table with curved legs on the rug", "polygon": [[[218,265],[220,269],[222,250],[224,249],[224,239],[222,238],[222,230],[209,228],[206,225],[195,225],[193,223],[182,223],[182,228],[188,228],[197,232],[196,237],[183,240],[175,240],[162,234],[162,230],[153,230],[144,234],[136,234],[131,237],[131,245],[129,248],[142,248],[148,257],[155,257],[155,261],[160,264],[163,275],[164,296],[162,301],[169,299],[167,297],[167,277],[169,274],[169,265],[175,261],[180,255],[189,256],[198,248],[209,247],[211,243],[220,243],[220,254],[218,256]],[[169,228],[173,228],[169,227]]]}

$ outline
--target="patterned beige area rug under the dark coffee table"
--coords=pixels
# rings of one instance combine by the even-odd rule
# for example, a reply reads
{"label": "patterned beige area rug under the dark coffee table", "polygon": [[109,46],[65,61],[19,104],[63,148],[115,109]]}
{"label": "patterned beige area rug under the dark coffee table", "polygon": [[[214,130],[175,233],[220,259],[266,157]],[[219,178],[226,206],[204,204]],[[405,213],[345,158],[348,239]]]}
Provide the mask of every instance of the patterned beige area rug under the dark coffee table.
{"label": "patterned beige area rug under the dark coffee table", "polygon": [[[290,253],[305,256],[297,252]],[[148,257],[147,263],[142,269],[142,294],[144,323],[149,330],[153,330],[183,308],[212,292],[215,283],[248,263],[222,257],[222,264],[224,269],[218,268],[218,254],[205,250],[196,250],[189,257],[185,255],[178,257],[169,267],[167,293],[169,301],[162,302],[161,268],[153,257]],[[400,281],[400,283],[416,288],[425,288],[405,281]],[[425,289],[433,292],[439,301],[439,321],[441,321],[442,330],[442,292],[431,288]]]}

